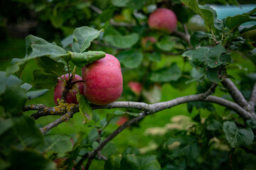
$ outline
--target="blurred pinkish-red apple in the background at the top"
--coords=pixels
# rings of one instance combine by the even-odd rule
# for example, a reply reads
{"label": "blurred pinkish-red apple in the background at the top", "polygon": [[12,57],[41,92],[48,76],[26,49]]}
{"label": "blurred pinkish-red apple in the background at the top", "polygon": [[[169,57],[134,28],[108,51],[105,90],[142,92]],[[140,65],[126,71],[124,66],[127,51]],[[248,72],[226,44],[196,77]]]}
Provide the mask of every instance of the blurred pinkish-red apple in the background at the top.
{"label": "blurred pinkish-red apple in the background at the top", "polygon": [[172,33],[176,29],[176,14],[168,8],[157,8],[150,14],[148,20],[149,28],[161,30],[165,33]]}

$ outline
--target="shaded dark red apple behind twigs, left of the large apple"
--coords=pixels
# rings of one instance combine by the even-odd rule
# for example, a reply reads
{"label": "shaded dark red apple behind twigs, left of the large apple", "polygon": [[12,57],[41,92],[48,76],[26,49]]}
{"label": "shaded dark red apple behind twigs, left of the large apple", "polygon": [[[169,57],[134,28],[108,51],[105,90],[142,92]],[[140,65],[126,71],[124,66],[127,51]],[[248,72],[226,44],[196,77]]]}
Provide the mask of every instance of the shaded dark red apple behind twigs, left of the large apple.
{"label": "shaded dark red apple behind twigs, left of the large apple", "polygon": [[[71,74],[70,74],[70,76],[71,76]],[[68,80],[68,78],[70,76],[68,76],[68,74],[65,74],[65,75],[62,75],[61,78],[64,79],[64,80]],[[79,81],[79,80],[82,80],[82,77],[75,74],[75,78],[73,79],[73,81]],[[73,81],[71,81],[71,82],[73,82]],[[64,82],[61,81],[61,80],[58,80],[58,84],[55,86],[54,94],[53,94],[53,99],[54,99],[54,102],[57,106],[58,106],[57,98],[61,98],[61,95],[63,94],[64,87],[65,87]],[[65,98],[67,103],[78,104],[78,100],[76,98],[76,94],[78,94],[78,91],[75,89],[75,87],[78,88],[78,90],[80,91],[81,94],[84,94],[85,83],[84,82],[76,83],[72,87],[72,89],[70,89],[70,91],[68,92],[68,94]]]}

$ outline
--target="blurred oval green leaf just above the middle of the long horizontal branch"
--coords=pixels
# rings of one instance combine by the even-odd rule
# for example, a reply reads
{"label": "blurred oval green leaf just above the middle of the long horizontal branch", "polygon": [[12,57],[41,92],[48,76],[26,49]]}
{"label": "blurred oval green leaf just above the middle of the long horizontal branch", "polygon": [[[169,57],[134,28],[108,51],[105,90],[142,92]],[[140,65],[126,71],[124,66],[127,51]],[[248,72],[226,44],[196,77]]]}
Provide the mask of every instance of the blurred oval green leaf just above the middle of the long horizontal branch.
{"label": "blurred oval green leaf just above the middle of the long horizontal branch", "polygon": [[171,67],[152,72],[149,79],[155,82],[177,81],[181,77],[181,69],[174,63]]}

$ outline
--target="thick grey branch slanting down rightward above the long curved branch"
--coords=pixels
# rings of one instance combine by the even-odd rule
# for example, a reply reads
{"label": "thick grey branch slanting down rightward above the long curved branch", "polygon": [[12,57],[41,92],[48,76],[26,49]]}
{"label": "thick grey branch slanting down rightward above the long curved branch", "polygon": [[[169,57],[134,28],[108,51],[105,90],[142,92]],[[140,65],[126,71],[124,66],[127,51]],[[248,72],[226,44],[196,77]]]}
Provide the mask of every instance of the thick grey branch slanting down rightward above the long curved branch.
{"label": "thick grey branch slanting down rightward above the long curved branch", "polygon": [[222,81],[223,86],[228,89],[229,94],[232,96],[235,103],[238,103],[242,108],[245,108],[246,111],[250,111],[250,104],[245,100],[245,97],[242,96],[241,92],[235,86],[233,81],[230,79],[225,79]]}

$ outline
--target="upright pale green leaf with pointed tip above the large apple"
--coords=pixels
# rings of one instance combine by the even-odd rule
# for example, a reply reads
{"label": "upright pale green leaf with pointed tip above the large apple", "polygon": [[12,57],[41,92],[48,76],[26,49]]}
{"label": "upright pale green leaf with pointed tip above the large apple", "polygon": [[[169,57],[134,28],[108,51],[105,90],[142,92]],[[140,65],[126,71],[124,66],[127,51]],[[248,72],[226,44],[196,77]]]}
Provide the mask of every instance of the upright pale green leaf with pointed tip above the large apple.
{"label": "upright pale green leaf with pointed tip above the large apple", "polygon": [[95,30],[87,26],[75,28],[73,33],[73,52],[84,52],[90,47],[92,40],[100,35],[100,32],[102,32],[102,30]]}

